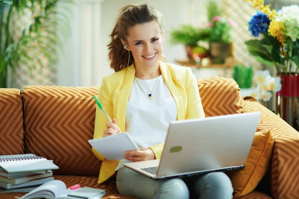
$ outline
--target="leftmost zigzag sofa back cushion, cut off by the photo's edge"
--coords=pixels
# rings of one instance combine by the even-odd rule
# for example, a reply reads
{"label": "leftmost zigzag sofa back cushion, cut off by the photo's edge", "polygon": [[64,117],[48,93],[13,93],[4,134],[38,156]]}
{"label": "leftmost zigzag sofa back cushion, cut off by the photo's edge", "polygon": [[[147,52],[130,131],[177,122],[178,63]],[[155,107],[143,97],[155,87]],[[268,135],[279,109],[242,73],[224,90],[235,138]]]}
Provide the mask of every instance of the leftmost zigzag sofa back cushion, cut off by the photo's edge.
{"label": "leftmost zigzag sofa back cushion, cut off by the photo's edge", "polygon": [[20,90],[0,89],[0,155],[23,153],[23,109]]}

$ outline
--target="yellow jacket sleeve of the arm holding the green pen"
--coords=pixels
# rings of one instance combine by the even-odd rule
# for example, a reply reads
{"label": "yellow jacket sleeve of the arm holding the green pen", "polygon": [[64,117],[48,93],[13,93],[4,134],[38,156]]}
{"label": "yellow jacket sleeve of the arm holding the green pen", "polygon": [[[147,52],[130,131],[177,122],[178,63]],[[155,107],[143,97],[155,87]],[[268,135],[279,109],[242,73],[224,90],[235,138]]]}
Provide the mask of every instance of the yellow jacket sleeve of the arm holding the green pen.
{"label": "yellow jacket sleeve of the arm holding the green pen", "polygon": [[[113,104],[111,97],[111,88],[107,83],[106,78],[103,79],[102,85],[99,90],[99,101],[101,102],[103,108],[106,110],[107,114],[114,118],[113,116]],[[106,122],[108,122],[108,118],[105,113],[96,105],[96,118],[95,118],[95,129],[94,129],[94,137],[93,139],[102,138],[104,134],[104,130],[106,129]],[[106,158],[97,152],[94,148],[92,148],[93,153],[99,160],[106,160]]]}

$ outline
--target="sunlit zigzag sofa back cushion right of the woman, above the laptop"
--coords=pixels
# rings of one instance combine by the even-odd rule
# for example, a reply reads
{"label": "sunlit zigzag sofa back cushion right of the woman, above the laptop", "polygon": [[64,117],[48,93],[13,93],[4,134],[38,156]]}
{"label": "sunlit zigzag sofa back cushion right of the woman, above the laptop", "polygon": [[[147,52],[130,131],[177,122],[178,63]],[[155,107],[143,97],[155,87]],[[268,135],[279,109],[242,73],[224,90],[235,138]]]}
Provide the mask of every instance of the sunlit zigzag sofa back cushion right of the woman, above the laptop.
{"label": "sunlit zigzag sofa back cushion right of the woman, above the laptop", "polygon": [[197,84],[207,117],[243,111],[244,100],[238,84],[233,79],[210,77],[197,79]]}

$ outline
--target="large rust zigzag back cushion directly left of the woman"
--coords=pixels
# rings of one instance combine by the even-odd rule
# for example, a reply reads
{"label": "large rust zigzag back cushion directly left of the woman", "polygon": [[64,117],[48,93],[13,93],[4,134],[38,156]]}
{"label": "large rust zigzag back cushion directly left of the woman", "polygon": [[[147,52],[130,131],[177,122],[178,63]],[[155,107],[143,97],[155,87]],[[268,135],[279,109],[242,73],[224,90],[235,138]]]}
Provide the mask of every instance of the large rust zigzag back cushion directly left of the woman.
{"label": "large rust zigzag back cushion directly left of the woman", "polygon": [[93,139],[99,87],[27,86],[21,91],[27,153],[54,160],[54,173],[98,176]]}

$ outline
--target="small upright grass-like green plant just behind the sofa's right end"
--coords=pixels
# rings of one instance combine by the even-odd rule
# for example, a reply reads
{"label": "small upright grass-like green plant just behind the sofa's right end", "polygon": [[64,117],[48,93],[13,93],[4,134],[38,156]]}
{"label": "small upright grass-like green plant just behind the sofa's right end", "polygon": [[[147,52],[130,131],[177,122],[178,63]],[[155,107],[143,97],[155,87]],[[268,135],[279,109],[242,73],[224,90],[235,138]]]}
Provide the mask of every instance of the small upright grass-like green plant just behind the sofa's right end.
{"label": "small upright grass-like green plant just behind the sofa's right end", "polygon": [[243,64],[236,64],[233,67],[233,79],[238,83],[239,87],[251,88],[253,78],[253,69]]}

